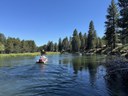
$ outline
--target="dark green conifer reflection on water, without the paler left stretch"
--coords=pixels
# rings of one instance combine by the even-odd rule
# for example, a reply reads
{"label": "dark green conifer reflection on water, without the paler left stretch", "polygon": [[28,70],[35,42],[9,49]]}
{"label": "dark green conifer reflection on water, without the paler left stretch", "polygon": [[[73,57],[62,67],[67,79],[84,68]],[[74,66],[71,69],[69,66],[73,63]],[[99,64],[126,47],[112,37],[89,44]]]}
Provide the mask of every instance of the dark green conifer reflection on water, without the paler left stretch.
{"label": "dark green conifer reflection on water, without the paler left stretch", "polygon": [[97,70],[101,62],[101,58],[98,58],[97,56],[76,57],[72,59],[74,74],[86,70],[91,86],[95,86],[98,75]]}

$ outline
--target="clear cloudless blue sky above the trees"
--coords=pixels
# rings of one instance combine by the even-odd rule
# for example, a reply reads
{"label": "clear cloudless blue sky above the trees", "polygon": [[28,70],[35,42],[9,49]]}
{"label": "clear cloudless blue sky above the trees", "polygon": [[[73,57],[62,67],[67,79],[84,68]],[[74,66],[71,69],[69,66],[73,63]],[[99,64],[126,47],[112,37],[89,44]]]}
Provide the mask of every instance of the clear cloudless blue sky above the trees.
{"label": "clear cloudless blue sky above the trees", "polygon": [[72,36],[76,28],[88,33],[94,21],[103,36],[111,0],[0,0],[0,32],[6,37],[34,40],[38,46]]}

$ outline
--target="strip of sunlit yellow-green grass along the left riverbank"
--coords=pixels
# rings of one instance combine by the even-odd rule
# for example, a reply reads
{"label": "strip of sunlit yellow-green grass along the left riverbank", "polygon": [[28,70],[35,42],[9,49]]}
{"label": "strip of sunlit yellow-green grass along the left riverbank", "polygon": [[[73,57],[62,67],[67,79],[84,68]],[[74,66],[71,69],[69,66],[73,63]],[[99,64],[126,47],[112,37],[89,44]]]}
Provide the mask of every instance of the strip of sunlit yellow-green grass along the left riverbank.
{"label": "strip of sunlit yellow-green grass along the left riverbank", "polygon": [[[46,55],[54,55],[54,54],[60,54],[60,52],[46,52]],[[40,52],[34,52],[34,53],[10,53],[10,54],[0,54],[0,58],[2,57],[16,57],[16,56],[38,56],[40,55]]]}

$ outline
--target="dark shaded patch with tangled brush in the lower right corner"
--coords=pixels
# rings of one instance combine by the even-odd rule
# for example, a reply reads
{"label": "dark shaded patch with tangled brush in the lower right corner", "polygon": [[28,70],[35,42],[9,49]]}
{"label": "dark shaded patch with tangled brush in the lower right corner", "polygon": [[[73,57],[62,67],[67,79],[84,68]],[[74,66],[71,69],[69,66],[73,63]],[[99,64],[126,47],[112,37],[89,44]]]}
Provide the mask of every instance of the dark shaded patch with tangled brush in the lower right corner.
{"label": "dark shaded patch with tangled brush in the lower right corner", "polygon": [[[113,58],[113,57],[111,57]],[[110,96],[128,95],[128,62],[116,58],[106,64],[105,83]]]}

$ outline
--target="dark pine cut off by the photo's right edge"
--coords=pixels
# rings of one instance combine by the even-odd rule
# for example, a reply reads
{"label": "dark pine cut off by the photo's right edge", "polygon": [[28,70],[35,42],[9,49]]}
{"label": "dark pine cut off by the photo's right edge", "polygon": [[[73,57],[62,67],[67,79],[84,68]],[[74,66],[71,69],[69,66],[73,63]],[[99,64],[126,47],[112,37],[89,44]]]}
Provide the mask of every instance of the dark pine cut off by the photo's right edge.
{"label": "dark pine cut off by the photo's right edge", "polygon": [[123,44],[128,37],[128,0],[118,0],[120,7],[119,27],[121,28],[121,37]]}

